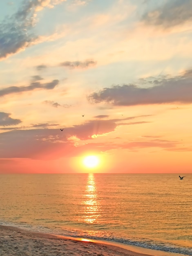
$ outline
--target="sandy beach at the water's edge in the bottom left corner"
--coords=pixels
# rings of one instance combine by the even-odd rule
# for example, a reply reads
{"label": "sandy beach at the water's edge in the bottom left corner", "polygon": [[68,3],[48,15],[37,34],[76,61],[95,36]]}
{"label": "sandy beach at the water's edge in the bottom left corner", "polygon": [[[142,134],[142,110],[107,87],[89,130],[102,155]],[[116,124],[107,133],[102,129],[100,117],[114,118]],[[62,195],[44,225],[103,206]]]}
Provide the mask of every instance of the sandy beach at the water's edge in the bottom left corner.
{"label": "sandy beach at the water's edge in the bottom left corner", "polygon": [[0,225],[0,256],[147,256],[121,247]]}

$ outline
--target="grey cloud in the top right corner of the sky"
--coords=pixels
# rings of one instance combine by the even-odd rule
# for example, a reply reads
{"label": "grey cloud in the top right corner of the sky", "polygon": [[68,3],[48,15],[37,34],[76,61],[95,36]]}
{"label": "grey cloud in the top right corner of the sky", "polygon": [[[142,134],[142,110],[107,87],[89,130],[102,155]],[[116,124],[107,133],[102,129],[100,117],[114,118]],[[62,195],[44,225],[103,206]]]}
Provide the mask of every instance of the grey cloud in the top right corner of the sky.
{"label": "grey cloud in the top right corner of the sky", "polygon": [[192,21],[192,0],[167,0],[162,7],[145,13],[142,20],[164,29]]}

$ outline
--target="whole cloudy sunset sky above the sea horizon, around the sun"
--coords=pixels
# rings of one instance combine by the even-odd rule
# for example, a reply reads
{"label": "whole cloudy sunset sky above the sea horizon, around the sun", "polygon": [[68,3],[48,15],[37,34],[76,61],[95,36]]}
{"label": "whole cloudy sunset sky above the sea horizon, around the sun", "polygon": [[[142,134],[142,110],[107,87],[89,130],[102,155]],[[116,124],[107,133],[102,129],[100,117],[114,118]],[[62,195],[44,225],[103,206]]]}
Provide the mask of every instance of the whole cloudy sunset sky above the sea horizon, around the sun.
{"label": "whole cloudy sunset sky above the sea horizon, around the sun", "polygon": [[192,0],[1,1],[0,173],[191,173],[191,56]]}

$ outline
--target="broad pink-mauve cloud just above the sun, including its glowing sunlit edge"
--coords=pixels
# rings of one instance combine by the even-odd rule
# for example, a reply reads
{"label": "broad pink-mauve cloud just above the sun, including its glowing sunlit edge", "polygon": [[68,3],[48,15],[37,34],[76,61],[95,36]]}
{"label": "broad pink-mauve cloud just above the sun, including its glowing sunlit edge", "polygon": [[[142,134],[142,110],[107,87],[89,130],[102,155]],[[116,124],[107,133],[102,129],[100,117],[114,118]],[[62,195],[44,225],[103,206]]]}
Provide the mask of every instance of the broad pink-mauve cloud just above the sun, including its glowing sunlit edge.
{"label": "broad pink-mauve cloud just above the sun, including its glowing sunlit edge", "polygon": [[[2,132],[0,141],[3,150],[0,151],[0,158],[58,159],[69,154],[77,156],[88,149],[101,152],[116,148],[116,145],[111,143],[90,145],[85,141],[94,141],[98,135],[114,132],[119,126],[119,120],[121,119],[90,120],[80,125],[64,127],[63,132],[59,128],[45,128],[57,125],[49,123],[32,124],[34,129]],[[19,149],[18,145],[20,145]]]}

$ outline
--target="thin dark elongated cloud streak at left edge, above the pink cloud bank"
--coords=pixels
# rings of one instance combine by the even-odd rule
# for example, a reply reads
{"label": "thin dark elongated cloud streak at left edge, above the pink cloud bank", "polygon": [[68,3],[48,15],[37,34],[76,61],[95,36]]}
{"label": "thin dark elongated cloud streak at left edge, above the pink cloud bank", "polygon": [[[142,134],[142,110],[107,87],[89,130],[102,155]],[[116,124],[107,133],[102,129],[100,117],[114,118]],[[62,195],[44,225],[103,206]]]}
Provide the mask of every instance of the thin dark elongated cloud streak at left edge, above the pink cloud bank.
{"label": "thin dark elongated cloud streak at left edge, above the pink cloud bank", "polygon": [[56,85],[58,85],[59,80],[53,80],[50,83],[40,83],[40,82],[33,82],[29,86],[11,86],[5,89],[0,90],[0,97],[12,94],[12,93],[18,93],[18,92],[28,92],[35,89],[45,89],[45,90],[51,90],[54,89]]}

